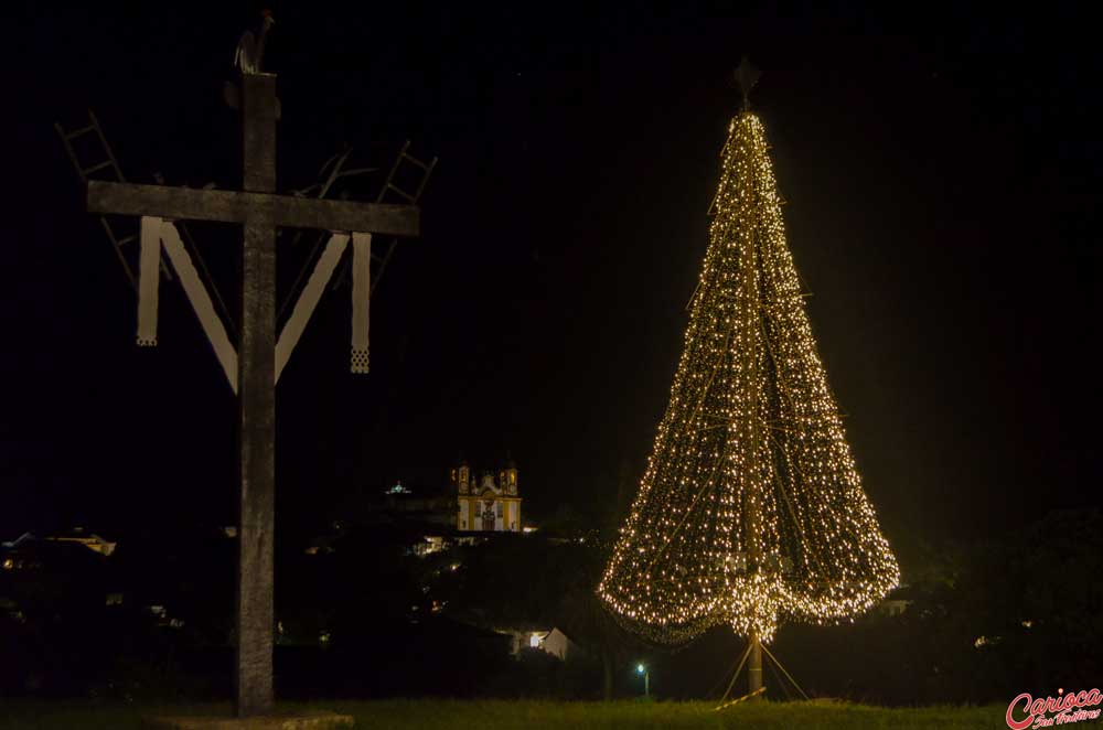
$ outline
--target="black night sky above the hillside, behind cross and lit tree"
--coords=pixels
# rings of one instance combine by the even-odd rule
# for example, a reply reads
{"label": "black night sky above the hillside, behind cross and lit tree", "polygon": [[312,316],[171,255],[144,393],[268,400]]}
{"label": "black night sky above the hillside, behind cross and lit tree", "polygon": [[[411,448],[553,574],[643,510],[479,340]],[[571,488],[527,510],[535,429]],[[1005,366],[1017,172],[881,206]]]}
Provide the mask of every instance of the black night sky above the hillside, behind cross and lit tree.
{"label": "black night sky above the hillside, behind cross and lit tree", "polygon": [[[347,289],[283,373],[277,529],[396,479],[440,485],[461,452],[511,453],[537,522],[600,520],[620,481],[634,490],[743,54],[890,541],[907,557],[1099,505],[1103,64],[1085,19],[405,4],[271,6],[281,191],[345,144],[355,167],[407,138],[440,158],[424,235],[373,299],[372,374],[347,372]],[[2,539],[234,520],[231,390],[179,285],[160,346],[135,346],[132,293],[52,125],[92,107],[131,181],[236,187],[221,90],[260,8],[6,10]],[[239,234],[192,232],[233,308]],[[281,236],[281,281],[308,249]]]}

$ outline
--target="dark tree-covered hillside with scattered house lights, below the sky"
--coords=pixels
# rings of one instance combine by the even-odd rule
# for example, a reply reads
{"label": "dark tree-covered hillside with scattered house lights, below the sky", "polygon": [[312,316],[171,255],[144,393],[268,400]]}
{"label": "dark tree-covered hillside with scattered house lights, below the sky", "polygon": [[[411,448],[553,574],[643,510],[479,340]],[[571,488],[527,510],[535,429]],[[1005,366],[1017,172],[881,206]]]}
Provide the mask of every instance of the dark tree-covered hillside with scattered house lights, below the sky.
{"label": "dark tree-covered hillside with scattered house lights, below the sky", "polygon": [[[1054,513],[1011,540],[932,550],[896,597],[909,601],[902,613],[785,625],[771,648],[811,694],[872,702],[1089,687],[1103,645],[1101,535],[1097,513]],[[411,536],[352,529],[332,551],[280,555],[281,696],[630,696],[641,661],[660,696],[715,696],[742,648],[726,627],[674,652],[624,634],[593,595],[606,556],[597,535],[505,535],[425,557]],[[138,537],[110,558],[24,548],[24,569],[0,572],[0,693],[228,696],[233,556],[215,533]],[[121,605],[105,600],[115,591]],[[567,662],[527,648],[513,657],[494,631],[553,626],[577,645]],[[767,681],[784,697],[769,668]]]}

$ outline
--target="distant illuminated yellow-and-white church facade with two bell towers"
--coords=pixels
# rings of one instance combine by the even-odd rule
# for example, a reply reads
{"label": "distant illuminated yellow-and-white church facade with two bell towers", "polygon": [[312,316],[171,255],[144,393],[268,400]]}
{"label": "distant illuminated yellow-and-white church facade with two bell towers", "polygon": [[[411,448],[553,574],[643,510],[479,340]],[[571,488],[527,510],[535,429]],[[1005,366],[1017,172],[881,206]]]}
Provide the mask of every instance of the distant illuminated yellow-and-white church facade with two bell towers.
{"label": "distant illuminated yellow-and-white church facade with two bell towers", "polygon": [[521,496],[517,494],[517,465],[512,461],[475,479],[467,462],[452,469],[459,513],[456,528],[460,532],[520,533]]}

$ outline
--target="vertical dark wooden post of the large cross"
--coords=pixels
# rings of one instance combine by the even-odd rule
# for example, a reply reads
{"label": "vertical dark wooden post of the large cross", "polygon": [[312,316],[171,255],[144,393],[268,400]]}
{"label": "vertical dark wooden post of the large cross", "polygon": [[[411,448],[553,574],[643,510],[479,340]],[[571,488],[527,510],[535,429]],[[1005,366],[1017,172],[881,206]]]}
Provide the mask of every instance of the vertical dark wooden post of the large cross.
{"label": "vertical dark wooden post of the large cross", "polygon": [[[244,190],[276,190],[276,77],[242,75]],[[238,527],[237,715],[272,709],[276,502],[276,226],[271,211],[245,223],[238,346],[240,525]]]}

